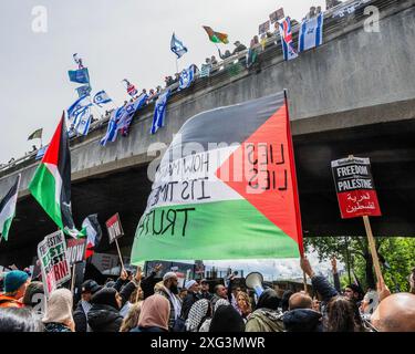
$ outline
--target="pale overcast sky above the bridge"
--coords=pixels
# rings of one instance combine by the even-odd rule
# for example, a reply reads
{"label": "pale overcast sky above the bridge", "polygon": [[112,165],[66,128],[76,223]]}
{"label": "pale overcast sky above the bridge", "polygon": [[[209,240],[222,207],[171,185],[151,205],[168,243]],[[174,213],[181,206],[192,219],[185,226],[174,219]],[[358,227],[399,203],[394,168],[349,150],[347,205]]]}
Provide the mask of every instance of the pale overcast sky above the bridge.
{"label": "pale overcast sky above the bridge", "polygon": [[[180,69],[217,54],[201,29],[210,25],[249,44],[269,13],[283,7],[301,20],[311,6],[324,0],[13,0],[0,2],[0,163],[31,149],[28,136],[43,127],[48,143],[61,117],[77,97],[77,84],[69,82],[77,52],[90,70],[93,93],[105,90],[116,103],[127,95],[121,84],[128,79],[139,90],[163,85],[175,73],[172,32],[189,52]],[[48,11],[48,32],[35,33],[33,8]],[[34,22],[38,23],[38,22]],[[224,50],[226,45],[221,45]],[[228,45],[232,49],[232,44]]]}

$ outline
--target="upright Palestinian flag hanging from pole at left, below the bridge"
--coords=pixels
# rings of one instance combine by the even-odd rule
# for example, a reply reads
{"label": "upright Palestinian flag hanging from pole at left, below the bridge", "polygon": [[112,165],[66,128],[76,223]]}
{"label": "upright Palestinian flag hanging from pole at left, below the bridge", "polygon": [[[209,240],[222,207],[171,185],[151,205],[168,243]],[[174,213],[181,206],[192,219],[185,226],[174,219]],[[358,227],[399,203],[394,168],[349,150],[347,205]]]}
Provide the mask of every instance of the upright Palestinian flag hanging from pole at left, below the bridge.
{"label": "upright Palestinian flag hanging from pole at left, below the bridge", "polygon": [[64,113],[29,190],[65,233],[77,237],[71,211],[71,153]]}

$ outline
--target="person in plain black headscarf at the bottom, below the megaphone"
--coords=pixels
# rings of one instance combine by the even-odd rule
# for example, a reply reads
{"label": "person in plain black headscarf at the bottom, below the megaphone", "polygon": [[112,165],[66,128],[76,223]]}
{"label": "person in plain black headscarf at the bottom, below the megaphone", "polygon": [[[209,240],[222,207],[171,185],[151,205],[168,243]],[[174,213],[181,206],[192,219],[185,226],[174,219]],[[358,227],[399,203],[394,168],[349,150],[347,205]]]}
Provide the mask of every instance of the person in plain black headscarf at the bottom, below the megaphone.
{"label": "person in plain black headscarf at the bottom, below the megaphone", "polygon": [[209,332],[245,332],[245,322],[232,305],[221,305],[215,311]]}

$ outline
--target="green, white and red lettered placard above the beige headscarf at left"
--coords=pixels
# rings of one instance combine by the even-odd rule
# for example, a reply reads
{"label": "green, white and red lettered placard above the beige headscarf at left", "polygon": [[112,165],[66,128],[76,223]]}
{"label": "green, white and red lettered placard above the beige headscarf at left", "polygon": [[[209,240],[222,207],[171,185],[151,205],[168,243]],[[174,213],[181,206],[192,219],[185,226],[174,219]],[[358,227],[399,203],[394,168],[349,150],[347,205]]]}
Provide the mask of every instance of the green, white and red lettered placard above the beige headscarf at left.
{"label": "green, white and red lettered placard above the beige headscarf at left", "polygon": [[42,269],[44,293],[49,298],[53,290],[71,279],[66,242],[61,230],[48,235],[38,244],[38,258]]}

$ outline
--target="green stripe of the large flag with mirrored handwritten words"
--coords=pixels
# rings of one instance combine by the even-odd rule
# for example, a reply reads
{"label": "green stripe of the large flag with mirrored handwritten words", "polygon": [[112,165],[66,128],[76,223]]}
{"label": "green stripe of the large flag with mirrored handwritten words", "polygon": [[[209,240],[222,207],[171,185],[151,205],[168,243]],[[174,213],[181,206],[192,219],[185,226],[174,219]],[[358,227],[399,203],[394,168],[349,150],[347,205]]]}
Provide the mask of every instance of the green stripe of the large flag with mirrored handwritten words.
{"label": "green stripe of the large flag with mirrored handwritten words", "polygon": [[132,250],[133,263],[297,257],[298,243],[245,199],[155,208]]}

